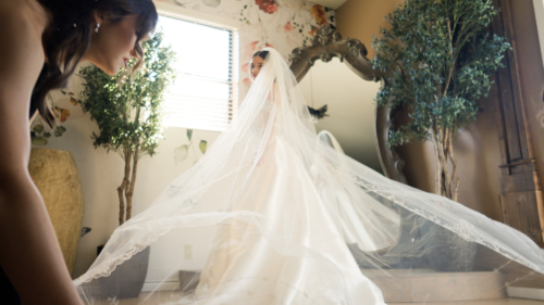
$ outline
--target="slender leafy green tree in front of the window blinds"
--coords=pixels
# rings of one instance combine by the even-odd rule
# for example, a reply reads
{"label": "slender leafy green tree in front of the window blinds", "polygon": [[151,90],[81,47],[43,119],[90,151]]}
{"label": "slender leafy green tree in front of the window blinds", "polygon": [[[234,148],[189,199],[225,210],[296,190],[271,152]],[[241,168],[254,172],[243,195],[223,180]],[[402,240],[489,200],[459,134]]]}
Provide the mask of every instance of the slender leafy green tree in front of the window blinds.
{"label": "slender leafy green tree in front of the window blinds", "polygon": [[[79,72],[86,81],[79,103],[100,130],[100,135],[92,132],[95,149],[115,151],[125,161],[123,181],[118,188],[120,225],[132,216],[138,160],[152,156],[162,138],[164,91],[175,77],[174,52],[170,46],[162,46],[162,39],[159,31],[143,43],[144,65],[132,76],[125,69],[109,76],[96,66]],[[135,64],[132,60],[127,69]]]}

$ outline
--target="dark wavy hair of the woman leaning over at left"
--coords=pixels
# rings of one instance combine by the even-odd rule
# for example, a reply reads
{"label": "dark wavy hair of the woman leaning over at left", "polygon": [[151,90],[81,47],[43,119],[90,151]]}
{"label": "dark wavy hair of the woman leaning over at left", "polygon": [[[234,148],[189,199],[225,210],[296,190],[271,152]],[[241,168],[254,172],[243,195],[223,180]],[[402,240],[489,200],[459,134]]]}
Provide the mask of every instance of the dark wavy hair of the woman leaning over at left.
{"label": "dark wavy hair of the woman leaning over at left", "polygon": [[37,109],[41,117],[54,126],[54,117],[46,102],[49,91],[65,88],[70,76],[90,43],[92,14],[103,14],[113,23],[124,17],[136,15],[136,45],[134,51],[138,58],[136,67],[141,65],[144,51],[139,41],[154,30],[159,15],[151,0],[38,0],[48,11],[51,22],[41,36],[46,63],[34,86],[30,107]]}

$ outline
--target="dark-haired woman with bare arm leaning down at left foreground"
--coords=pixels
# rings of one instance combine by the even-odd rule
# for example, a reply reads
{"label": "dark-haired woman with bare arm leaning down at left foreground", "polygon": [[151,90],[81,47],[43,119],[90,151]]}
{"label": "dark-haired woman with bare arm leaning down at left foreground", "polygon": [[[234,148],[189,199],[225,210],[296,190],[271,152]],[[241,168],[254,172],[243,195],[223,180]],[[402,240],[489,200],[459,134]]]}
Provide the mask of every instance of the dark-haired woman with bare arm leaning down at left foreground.
{"label": "dark-haired woman with bare arm leaning down at left foreground", "polygon": [[[30,180],[28,114],[54,126],[49,91],[87,61],[115,75],[154,29],[151,0],[0,1],[0,300],[82,304]],[[15,292],[16,291],[16,292]]]}

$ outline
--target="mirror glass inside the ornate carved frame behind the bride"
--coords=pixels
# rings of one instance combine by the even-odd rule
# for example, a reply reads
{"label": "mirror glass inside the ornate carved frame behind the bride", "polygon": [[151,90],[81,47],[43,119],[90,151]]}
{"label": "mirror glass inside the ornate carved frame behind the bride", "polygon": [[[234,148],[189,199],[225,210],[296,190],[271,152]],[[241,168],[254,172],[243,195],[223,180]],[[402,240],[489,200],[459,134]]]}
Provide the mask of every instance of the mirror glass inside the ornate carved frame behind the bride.
{"label": "mirror glass inside the ornate carved frame behind the bride", "polygon": [[299,82],[309,105],[329,106],[329,116],[316,124],[316,130],[331,131],[346,155],[383,173],[374,140],[374,98],[380,86],[357,76],[338,58],[316,61]]}

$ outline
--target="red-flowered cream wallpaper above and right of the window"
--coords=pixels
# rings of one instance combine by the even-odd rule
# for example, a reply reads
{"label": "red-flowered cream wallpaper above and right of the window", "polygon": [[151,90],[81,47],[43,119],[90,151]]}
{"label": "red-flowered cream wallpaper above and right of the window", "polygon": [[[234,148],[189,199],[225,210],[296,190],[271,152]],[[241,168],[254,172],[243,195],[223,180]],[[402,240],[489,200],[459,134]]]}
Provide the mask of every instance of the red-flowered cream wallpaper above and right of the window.
{"label": "red-flowered cream wallpaper above and right of the window", "polygon": [[242,22],[240,99],[251,85],[251,55],[273,47],[286,60],[293,49],[310,43],[318,28],[335,26],[335,11],[305,0],[164,0],[187,9],[220,14]]}

